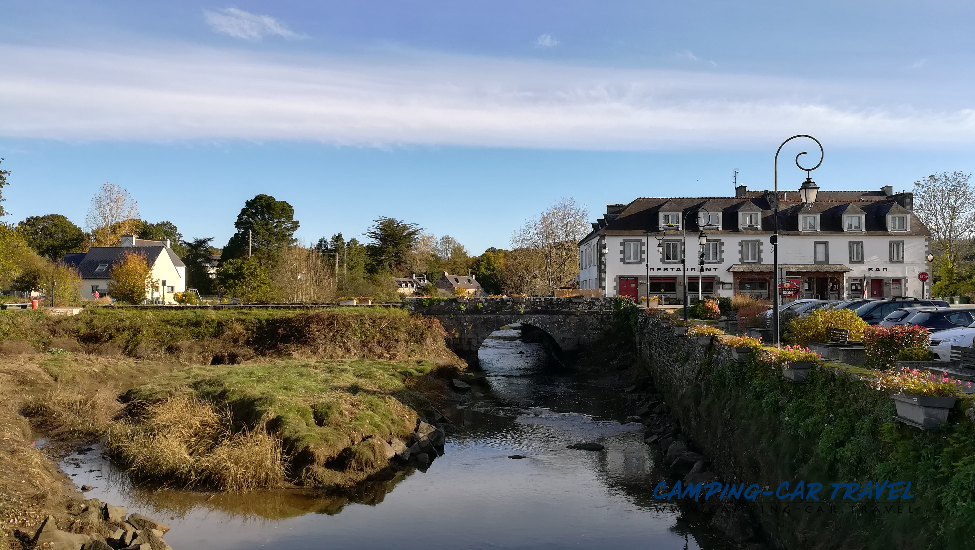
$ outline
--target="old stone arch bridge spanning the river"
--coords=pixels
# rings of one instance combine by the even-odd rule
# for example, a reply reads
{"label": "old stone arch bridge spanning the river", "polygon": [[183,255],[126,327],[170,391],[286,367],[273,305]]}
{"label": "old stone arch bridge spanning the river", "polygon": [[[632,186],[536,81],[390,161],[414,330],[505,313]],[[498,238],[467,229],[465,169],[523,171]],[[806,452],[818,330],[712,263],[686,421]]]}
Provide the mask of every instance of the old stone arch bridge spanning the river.
{"label": "old stone arch bridge spanning the river", "polygon": [[512,323],[545,331],[565,358],[584,350],[612,327],[615,298],[410,298],[407,309],[440,320],[447,345],[469,364],[490,333]]}

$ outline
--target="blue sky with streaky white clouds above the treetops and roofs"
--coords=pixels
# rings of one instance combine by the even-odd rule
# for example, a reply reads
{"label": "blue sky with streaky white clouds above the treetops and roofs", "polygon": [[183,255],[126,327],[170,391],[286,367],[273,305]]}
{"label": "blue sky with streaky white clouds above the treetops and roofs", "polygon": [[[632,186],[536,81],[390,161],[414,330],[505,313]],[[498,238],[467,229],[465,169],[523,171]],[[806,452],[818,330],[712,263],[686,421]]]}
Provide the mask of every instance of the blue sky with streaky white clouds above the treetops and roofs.
{"label": "blue sky with streaky white clouds above the treetops and roofs", "polygon": [[[823,189],[971,171],[975,6],[961,2],[0,1],[4,220],[98,186],[226,241],[243,202],[298,238],[388,215],[474,253],[572,196]],[[804,174],[791,157],[784,188]],[[811,153],[811,150],[810,150]]]}

